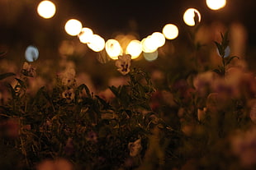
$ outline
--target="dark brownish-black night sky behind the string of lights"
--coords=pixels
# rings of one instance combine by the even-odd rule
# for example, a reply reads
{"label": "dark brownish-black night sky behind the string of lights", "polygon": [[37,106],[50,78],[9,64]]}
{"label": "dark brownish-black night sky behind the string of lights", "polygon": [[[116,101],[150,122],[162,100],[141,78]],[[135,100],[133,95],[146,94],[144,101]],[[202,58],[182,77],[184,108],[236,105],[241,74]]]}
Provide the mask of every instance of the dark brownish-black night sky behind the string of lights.
{"label": "dark brownish-black night sky behind the string of lights", "polygon": [[82,21],[104,39],[113,38],[116,32],[135,32],[140,39],[161,31],[165,24],[174,23],[180,28],[183,12],[195,7],[201,12],[203,23],[220,21],[225,25],[239,21],[249,34],[249,46],[256,46],[256,16],[254,0],[229,0],[220,11],[211,11],[205,0],[55,0],[57,11],[53,18],[45,20],[36,13],[40,1],[0,1],[0,45],[41,44],[57,48],[59,41],[71,39],[64,31],[70,18]]}

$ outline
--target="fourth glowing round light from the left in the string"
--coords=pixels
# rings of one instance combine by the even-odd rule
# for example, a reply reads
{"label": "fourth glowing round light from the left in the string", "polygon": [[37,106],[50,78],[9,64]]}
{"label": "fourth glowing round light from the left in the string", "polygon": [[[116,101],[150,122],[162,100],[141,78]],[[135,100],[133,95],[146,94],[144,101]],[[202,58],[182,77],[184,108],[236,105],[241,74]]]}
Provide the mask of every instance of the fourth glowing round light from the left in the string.
{"label": "fourth glowing round light from the left in the string", "polygon": [[92,34],[88,48],[91,48],[95,52],[100,52],[105,48],[105,40],[97,34]]}

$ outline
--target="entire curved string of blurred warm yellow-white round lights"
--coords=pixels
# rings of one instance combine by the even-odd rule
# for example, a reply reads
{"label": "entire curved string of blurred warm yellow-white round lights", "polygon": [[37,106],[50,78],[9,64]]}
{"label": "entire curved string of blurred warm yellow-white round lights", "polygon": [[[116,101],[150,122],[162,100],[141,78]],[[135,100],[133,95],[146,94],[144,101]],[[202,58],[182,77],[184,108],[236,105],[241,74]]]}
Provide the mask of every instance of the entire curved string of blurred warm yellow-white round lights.
{"label": "entire curved string of blurred warm yellow-white round lights", "polygon": [[[226,0],[206,0],[207,7],[212,10],[225,7],[225,4]],[[50,18],[55,15],[56,7],[53,2],[44,0],[38,5],[37,11],[40,16]],[[183,14],[183,21],[187,25],[193,26],[196,24],[196,21],[201,21],[201,14],[195,8],[188,8]],[[167,24],[164,25],[162,33],[154,32],[141,41],[130,40],[130,43],[126,44],[126,47],[122,47],[116,39],[109,39],[105,44],[105,40],[100,35],[93,34],[91,29],[83,27],[82,23],[75,19],[67,21],[64,30],[71,36],[77,35],[81,43],[87,44],[88,48],[91,48],[95,52],[100,52],[106,48],[108,56],[112,59],[117,59],[123,51],[122,48],[126,48],[126,53],[129,53],[132,59],[139,57],[140,53],[143,52],[144,57],[148,61],[153,61],[158,57],[157,50],[159,47],[164,46],[165,39],[176,39],[179,32],[176,25]]]}

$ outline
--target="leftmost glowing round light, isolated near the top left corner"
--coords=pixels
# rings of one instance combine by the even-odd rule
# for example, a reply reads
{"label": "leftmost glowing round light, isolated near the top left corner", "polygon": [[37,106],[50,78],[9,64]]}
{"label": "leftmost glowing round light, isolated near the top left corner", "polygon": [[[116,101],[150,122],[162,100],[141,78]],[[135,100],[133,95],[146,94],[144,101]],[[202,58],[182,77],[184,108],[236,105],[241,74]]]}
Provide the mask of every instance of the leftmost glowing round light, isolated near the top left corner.
{"label": "leftmost glowing round light, isolated near the top left corner", "polygon": [[45,19],[55,16],[55,11],[55,4],[50,1],[42,1],[37,6],[37,13]]}

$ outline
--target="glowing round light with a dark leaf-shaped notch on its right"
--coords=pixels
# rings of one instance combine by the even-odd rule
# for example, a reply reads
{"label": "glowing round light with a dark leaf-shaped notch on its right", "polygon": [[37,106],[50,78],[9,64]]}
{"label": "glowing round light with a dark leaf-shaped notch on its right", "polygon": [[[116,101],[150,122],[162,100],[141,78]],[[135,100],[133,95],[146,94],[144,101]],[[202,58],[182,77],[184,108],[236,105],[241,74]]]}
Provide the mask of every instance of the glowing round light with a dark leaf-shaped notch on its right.
{"label": "glowing round light with a dark leaf-shaped notch on its right", "polygon": [[195,20],[197,19],[197,16],[195,15],[195,13],[198,16],[198,21],[201,21],[201,15],[199,13],[199,11],[197,11],[194,8],[188,8],[187,11],[184,12],[183,15],[183,20],[184,22],[189,25],[189,26],[194,26],[196,25]]}

